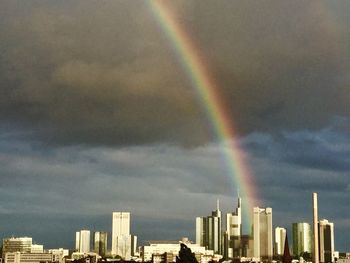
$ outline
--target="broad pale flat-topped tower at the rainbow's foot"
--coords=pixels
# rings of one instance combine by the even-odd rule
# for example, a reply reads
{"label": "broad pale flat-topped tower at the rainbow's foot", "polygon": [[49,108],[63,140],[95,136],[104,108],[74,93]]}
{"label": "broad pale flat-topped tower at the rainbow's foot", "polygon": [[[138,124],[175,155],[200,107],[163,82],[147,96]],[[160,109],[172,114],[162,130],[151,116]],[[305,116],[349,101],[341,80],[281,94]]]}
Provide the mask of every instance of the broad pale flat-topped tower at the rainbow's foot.
{"label": "broad pale flat-topped tower at the rainbow's foot", "polygon": [[255,258],[272,259],[272,208],[254,207],[253,242]]}

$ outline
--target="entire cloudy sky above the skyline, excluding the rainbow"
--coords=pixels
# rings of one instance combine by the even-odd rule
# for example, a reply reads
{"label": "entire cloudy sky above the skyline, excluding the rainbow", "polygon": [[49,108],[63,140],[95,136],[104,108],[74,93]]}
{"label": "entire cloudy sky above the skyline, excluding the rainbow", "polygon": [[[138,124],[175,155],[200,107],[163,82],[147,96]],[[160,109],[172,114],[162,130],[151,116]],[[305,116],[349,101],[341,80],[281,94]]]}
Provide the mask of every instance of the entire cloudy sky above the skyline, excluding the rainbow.
{"label": "entire cloudy sky above the skyline, excluding the rainbow", "polygon": [[[350,3],[166,1],[205,54],[275,226],[335,223],[350,250]],[[147,1],[0,1],[0,236],[73,247],[132,213],[140,240],[194,239],[236,186]],[[249,226],[246,226],[249,228]]]}

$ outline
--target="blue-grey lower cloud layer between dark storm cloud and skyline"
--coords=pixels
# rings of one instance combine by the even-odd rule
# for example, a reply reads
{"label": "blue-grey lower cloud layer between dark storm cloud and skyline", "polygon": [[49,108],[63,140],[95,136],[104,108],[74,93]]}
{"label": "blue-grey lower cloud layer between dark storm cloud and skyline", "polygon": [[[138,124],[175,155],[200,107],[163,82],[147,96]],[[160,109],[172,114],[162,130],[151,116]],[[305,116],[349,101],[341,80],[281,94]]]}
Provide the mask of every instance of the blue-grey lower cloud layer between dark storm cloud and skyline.
{"label": "blue-grey lower cloud layer between dark storm cloud and skyline", "polygon": [[[287,140],[298,138],[302,142],[311,135],[288,133],[278,141],[269,135],[254,134],[245,137],[241,147],[256,179],[259,204],[274,209],[275,226],[290,228],[292,222],[310,222],[311,192],[317,191],[320,217],[335,222],[337,248],[345,250],[342,236],[348,228],[342,220],[350,216],[347,172],[277,158],[287,150],[290,156],[299,154],[298,147],[290,148]],[[334,137],[337,141],[330,145]],[[313,138],[322,141],[330,155],[347,155],[347,134],[323,129],[313,133]],[[257,144],[258,151],[256,146],[251,147]],[[10,151],[9,145],[20,151]],[[85,227],[110,231],[111,212],[127,210],[132,213],[133,231],[141,240],[181,236],[193,239],[195,217],[209,214],[217,198],[224,212],[235,207],[237,185],[227,174],[220,147],[215,144],[196,148],[166,144],[48,148],[12,140],[0,146],[3,235],[28,233],[49,246],[69,246],[75,230]],[[262,155],[261,149],[267,154]],[[309,155],[315,159],[324,151],[311,149],[314,151],[309,150]],[[29,222],[26,226],[8,226],[8,220],[20,222],[23,218]],[[37,230],[38,222],[47,226],[46,232]],[[250,229],[248,222],[245,218],[245,232]],[[52,230],[55,241],[45,236],[52,229],[50,224],[57,225],[60,231]],[[65,224],[70,227],[62,229]]]}

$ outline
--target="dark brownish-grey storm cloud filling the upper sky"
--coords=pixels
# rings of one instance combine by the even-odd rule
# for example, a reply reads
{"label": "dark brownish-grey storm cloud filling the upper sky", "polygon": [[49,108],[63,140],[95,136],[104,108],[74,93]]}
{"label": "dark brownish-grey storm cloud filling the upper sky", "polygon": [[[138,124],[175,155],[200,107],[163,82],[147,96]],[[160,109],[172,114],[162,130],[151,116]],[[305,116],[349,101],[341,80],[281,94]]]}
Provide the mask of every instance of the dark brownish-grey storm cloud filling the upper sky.
{"label": "dark brownish-grey storm cloud filling the upper sky", "polygon": [[[323,2],[169,5],[240,132],[322,127],[349,113],[349,36],[332,30],[347,21]],[[146,2],[3,1],[0,27],[2,125],[49,143],[208,139],[190,82]]]}

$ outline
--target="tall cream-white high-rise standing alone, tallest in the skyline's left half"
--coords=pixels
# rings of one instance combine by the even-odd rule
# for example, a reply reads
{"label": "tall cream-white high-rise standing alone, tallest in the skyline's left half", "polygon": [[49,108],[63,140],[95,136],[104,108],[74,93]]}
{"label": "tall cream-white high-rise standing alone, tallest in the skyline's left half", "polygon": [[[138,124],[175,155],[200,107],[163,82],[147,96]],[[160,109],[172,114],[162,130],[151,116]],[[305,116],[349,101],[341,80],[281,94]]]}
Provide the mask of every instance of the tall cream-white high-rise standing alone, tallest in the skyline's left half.
{"label": "tall cream-white high-rise standing alone, tallest in the skyline's left half", "polygon": [[113,212],[112,255],[129,260],[135,252],[137,238],[130,235],[130,213]]}

